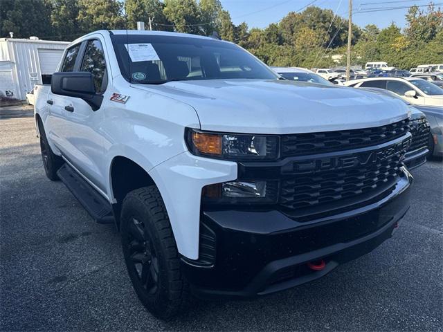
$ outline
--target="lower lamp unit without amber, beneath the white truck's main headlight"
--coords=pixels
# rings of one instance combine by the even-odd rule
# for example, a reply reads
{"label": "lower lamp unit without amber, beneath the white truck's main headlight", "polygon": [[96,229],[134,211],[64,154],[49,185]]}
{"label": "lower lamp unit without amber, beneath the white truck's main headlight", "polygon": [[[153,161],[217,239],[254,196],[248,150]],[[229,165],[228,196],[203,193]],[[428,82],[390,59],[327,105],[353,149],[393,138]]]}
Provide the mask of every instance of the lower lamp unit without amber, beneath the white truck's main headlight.
{"label": "lower lamp unit without amber, beneath the white truck's main headlight", "polygon": [[208,204],[271,204],[275,203],[277,192],[277,181],[230,181],[206,185],[201,198]]}

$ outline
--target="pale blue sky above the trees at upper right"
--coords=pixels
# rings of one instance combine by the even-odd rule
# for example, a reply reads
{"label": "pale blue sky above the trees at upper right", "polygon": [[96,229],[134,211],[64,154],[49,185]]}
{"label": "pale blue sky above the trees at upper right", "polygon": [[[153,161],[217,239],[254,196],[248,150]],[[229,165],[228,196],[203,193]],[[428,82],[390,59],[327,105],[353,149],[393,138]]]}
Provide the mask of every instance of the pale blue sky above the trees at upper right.
{"label": "pale blue sky above the trees at upper right", "polygon": [[[298,11],[309,3],[312,6],[332,9],[338,12],[338,15],[347,17],[349,0],[221,0],[224,9],[230,12],[233,23],[246,21],[249,28],[266,28],[282,19],[288,12]],[[405,15],[408,12],[404,7],[424,6],[428,3],[429,0],[353,0],[352,22],[361,27],[376,24],[379,28],[386,28],[394,21],[397,26],[404,28]],[[434,0],[434,3],[443,4],[443,0]],[[396,9],[386,10],[387,8]],[[365,10],[369,11],[363,12]]]}

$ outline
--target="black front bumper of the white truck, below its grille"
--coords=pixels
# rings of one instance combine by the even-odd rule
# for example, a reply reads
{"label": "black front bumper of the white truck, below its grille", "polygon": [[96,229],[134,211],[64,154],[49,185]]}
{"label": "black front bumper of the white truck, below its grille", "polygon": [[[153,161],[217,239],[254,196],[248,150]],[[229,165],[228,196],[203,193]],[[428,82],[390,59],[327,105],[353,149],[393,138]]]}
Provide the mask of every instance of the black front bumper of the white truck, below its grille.
{"label": "black front bumper of the white truck, below its grille", "polygon": [[[206,248],[205,255],[214,255],[214,264],[199,266],[198,261],[182,259],[192,293],[203,298],[253,297],[323,277],[391,237],[409,208],[411,182],[405,172],[381,201],[308,222],[275,210],[204,212],[202,225],[210,230],[208,237],[215,237],[215,246]],[[320,259],[325,268],[308,267]]]}

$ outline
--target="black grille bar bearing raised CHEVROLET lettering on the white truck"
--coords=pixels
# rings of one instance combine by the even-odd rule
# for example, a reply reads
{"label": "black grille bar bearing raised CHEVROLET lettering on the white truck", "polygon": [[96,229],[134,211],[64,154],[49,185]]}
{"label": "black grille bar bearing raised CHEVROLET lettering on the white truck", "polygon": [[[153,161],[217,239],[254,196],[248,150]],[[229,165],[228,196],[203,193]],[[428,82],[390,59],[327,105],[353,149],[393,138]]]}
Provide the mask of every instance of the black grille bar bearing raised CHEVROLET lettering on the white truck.
{"label": "black grille bar bearing raised CHEVROLET lettering on the white truck", "polygon": [[396,155],[401,155],[402,160],[410,142],[411,138],[409,137],[406,140],[377,150],[364,151],[347,156],[328,156],[325,158],[313,158],[312,160],[294,161],[292,163],[291,173],[314,173],[371,165],[377,163],[377,161],[382,161]]}

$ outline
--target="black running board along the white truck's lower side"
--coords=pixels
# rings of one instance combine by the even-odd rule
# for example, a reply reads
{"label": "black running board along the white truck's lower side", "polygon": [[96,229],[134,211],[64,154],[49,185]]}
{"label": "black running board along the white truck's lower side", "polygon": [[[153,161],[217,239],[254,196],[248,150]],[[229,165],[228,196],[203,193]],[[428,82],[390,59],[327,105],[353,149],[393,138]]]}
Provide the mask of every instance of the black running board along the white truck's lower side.
{"label": "black running board along the white truck's lower side", "polygon": [[64,185],[98,223],[114,223],[111,204],[66,163],[57,171]]}

